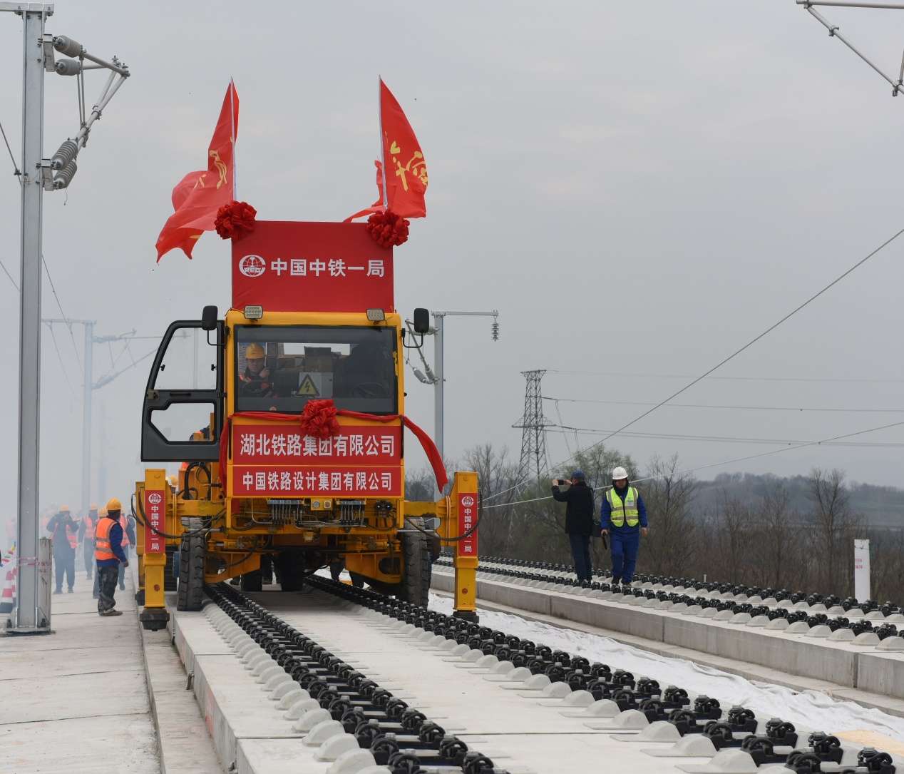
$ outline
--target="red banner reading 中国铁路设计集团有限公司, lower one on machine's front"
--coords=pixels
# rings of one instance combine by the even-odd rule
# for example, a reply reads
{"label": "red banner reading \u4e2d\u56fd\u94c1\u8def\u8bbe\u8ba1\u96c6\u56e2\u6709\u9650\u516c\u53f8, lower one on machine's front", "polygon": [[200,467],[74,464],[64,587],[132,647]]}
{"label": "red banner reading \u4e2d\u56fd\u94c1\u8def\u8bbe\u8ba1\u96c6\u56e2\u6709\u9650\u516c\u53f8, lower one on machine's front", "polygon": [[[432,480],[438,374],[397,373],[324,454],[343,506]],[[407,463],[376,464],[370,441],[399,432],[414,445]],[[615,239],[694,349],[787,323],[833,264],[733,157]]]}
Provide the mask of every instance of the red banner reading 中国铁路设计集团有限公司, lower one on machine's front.
{"label": "red banner reading \u4e2d\u56fd\u94c1\u8def\u8bbe\u8ba1\u96c6\u56e2\u6709\u9650\u516c\u53f8, lower one on machine's front", "polygon": [[259,497],[400,497],[400,466],[233,465],[231,494]]}

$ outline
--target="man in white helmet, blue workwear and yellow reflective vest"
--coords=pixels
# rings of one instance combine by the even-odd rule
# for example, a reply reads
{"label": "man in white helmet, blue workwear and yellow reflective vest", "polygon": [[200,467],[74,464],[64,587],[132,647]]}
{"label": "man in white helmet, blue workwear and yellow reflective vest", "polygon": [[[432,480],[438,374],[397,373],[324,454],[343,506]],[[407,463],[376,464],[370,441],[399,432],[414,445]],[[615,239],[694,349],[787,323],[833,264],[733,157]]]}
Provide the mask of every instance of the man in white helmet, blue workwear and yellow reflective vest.
{"label": "man in white helmet, blue workwear and yellow reflective vest", "polygon": [[612,584],[629,584],[634,579],[640,536],[646,537],[646,505],[635,486],[630,486],[627,471],[612,471],[612,488],[599,508],[600,534],[609,535],[612,544]]}

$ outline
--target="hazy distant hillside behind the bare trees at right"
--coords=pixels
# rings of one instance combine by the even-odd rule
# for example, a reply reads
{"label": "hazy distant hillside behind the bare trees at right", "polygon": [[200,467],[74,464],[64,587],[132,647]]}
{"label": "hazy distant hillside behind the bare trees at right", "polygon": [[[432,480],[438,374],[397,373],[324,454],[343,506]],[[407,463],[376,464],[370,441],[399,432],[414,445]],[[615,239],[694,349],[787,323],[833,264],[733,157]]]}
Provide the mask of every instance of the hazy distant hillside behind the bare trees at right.
{"label": "hazy distant hillside behind the bare trees at right", "polygon": [[[775,486],[786,488],[792,509],[805,514],[812,508],[804,476],[782,478],[772,474],[722,473],[711,481],[698,482],[694,510],[701,515],[714,513],[726,496],[758,501]],[[863,514],[872,527],[904,527],[904,489],[858,483],[849,485],[848,489],[852,510]]]}

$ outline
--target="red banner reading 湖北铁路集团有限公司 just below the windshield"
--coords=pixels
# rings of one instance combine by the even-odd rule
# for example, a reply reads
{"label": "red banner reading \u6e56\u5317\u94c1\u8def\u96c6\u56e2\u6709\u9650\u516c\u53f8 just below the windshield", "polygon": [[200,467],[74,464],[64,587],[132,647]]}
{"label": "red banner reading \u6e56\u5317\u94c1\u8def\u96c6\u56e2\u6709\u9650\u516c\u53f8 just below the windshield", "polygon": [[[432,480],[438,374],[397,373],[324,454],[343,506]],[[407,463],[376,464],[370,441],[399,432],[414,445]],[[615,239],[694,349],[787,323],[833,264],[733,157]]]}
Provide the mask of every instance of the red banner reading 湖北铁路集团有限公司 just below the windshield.
{"label": "red banner reading \u6e56\u5317\u94c1\u8def\u96c6\u56e2\u6709\u9650\u516c\u53f8 just below the windshield", "polygon": [[316,439],[287,426],[232,425],[236,465],[391,465],[401,460],[401,428],[343,425],[333,438]]}

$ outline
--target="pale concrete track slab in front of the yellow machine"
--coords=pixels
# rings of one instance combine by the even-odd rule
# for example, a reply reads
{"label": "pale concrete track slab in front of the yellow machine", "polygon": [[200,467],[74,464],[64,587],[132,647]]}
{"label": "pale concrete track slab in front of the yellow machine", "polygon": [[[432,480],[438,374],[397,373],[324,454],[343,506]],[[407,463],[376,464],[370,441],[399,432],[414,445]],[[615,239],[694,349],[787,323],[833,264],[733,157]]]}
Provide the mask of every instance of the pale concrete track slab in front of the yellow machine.
{"label": "pale concrete track slab in front of the yellow machine", "polygon": [[[636,745],[590,730],[586,718],[564,717],[559,705],[523,699],[516,692],[500,690],[483,675],[456,669],[447,649],[423,647],[414,637],[400,633],[397,622],[371,610],[331,609],[330,598],[319,593],[250,596],[319,644],[334,652],[341,645],[344,657],[366,661],[371,668],[365,674],[381,675],[381,685],[399,686],[397,694],[404,690],[412,697],[412,706],[444,727],[460,727],[457,736],[504,769],[519,774],[589,771],[605,760],[618,769],[650,770],[649,758]],[[331,764],[315,760],[317,748],[306,746],[302,734],[291,732],[285,712],[276,709],[263,686],[234,655],[194,652],[195,645],[214,649],[212,634],[225,643],[211,623],[217,620],[215,612],[209,616],[176,613],[174,618],[176,638],[184,640],[180,653],[193,663],[194,694],[224,767],[234,760],[237,774],[300,770],[319,774],[329,768]],[[688,759],[660,760],[655,770],[674,774],[677,762]]]}

